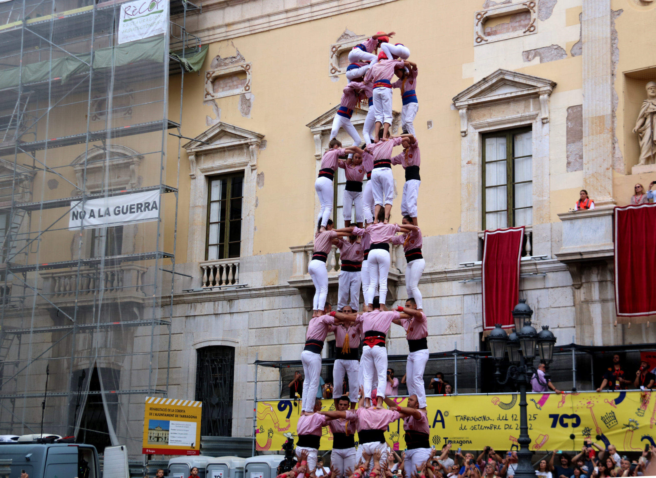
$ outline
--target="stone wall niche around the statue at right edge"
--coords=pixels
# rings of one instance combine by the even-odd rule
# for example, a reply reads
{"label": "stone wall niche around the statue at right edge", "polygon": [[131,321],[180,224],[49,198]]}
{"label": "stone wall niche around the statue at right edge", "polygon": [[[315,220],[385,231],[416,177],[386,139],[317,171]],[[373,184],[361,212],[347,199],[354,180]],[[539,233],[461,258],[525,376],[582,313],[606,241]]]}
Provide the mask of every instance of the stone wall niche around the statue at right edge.
{"label": "stone wall niche around the statue at right edge", "polygon": [[640,161],[640,142],[638,133],[633,132],[636,119],[638,119],[642,108],[642,102],[647,98],[645,87],[649,81],[656,81],[656,66],[625,71],[624,73],[624,157],[626,174],[656,172],[656,163],[638,164]]}

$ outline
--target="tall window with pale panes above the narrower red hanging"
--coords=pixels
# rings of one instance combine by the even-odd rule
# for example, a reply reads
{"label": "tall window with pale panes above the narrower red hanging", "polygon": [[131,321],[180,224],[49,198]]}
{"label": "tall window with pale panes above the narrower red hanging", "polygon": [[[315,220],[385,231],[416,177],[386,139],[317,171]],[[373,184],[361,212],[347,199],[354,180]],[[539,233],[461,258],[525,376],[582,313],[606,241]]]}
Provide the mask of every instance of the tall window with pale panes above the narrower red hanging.
{"label": "tall window with pale panes above the narrower red hanging", "polygon": [[483,135],[483,229],[533,224],[530,129]]}

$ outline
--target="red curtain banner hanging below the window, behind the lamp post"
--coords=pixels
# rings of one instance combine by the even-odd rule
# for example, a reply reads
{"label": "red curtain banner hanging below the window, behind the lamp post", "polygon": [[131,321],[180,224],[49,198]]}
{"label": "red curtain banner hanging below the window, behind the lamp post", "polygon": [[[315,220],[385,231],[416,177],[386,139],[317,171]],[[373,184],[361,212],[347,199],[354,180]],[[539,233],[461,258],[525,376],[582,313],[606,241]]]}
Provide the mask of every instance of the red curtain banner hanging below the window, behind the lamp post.
{"label": "red curtain banner hanging below the window, behind the lamp post", "polygon": [[501,324],[512,329],[512,309],[519,302],[520,259],[524,228],[485,231],[483,246],[483,330]]}

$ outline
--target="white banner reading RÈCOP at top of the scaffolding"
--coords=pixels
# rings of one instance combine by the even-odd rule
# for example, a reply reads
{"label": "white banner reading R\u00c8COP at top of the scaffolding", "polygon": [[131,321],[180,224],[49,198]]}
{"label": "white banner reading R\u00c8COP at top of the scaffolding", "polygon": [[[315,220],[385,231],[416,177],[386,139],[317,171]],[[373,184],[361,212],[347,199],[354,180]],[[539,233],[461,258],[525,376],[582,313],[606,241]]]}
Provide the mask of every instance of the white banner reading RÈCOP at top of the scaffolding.
{"label": "white banner reading R\u00c8COP at top of the scaffolding", "polygon": [[121,5],[119,44],[166,33],[169,0],[137,0]]}

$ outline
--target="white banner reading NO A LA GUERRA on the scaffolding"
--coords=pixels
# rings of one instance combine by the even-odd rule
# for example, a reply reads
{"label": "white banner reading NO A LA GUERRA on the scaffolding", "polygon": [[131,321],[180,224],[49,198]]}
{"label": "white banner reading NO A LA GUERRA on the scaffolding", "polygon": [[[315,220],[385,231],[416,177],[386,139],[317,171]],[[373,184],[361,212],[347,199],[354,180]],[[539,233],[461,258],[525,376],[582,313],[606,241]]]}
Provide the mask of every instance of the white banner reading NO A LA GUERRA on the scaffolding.
{"label": "white banner reading NO A LA GUERRA on the scaffolding", "polygon": [[89,199],[82,209],[82,201],[73,203],[68,230],[106,228],[119,224],[156,221],[159,217],[159,189],[143,193]]}

